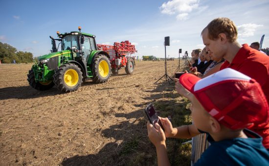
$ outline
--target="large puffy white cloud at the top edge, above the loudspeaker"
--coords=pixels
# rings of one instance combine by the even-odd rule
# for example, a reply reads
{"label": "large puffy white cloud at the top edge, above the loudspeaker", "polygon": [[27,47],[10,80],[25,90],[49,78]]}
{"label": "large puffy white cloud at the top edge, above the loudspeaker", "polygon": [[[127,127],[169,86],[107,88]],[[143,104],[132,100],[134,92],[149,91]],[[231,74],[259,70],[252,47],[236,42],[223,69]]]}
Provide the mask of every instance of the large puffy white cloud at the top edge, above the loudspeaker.
{"label": "large puffy white cloud at the top edge, above the loudspeaker", "polygon": [[167,15],[177,14],[177,20],[186,20],[190,12],[199,7],[199,0],[169,0],[164,2],[161,13]]}

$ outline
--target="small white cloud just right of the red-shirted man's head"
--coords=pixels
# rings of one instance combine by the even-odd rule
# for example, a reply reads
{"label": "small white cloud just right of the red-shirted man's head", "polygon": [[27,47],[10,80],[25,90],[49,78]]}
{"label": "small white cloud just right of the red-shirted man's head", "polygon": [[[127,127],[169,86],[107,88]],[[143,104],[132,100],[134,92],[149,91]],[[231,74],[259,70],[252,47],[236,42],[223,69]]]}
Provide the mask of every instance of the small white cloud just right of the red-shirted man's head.
{"label": "small white cloud just right of the red-shirted man's head", "polygon": [[263,25],[258,25],[255,23],[247,23],[243,25],[237,26],[238,29],[238,37],[250,37],[254,36],[254,32],[256,31],[257,27],[260,27]]}

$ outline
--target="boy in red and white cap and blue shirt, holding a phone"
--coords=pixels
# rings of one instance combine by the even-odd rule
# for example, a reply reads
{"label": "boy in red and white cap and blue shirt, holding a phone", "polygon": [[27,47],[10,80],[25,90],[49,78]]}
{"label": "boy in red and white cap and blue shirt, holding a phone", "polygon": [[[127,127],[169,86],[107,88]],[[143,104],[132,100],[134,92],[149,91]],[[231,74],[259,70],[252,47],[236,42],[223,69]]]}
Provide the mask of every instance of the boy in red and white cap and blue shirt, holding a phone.
{"label": "boy in red and white cap and blue shirt, holding a phone", "polygon": [[[183,74],[179,83],[192,102],[192,120],[207,133],[211,145],[196,165],[268,166],[269,153],[258,134],[245,129],[269,122],[269,106],[259,83],[230,68],[204,79]],[[157,149],[158,165],[169,165],[165,137],[177,137],[167,118],[160,118],[165,132],[148,123],[148,136]]]}

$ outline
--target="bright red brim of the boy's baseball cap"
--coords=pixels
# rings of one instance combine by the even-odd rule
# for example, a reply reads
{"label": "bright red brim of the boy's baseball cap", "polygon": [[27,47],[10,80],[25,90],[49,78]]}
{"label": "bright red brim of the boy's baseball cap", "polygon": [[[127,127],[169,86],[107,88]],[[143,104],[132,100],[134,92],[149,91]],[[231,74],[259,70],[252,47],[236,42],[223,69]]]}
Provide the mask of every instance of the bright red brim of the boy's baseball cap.
{"label": "bright red brim of the boy's baseball cap", "polygon": [[195,83],[197,83],[199,80],[201,80],[201,78],[190,73],[183,74],[181,77],[179,77],[179,83],[181,83],[182,86],[192,93]]}

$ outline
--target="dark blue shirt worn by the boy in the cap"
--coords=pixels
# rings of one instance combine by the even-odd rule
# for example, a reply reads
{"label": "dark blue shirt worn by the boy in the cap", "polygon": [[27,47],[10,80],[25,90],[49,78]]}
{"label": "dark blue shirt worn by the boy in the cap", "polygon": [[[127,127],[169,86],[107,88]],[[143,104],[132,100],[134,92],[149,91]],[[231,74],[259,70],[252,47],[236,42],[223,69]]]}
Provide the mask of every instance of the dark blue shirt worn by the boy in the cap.
{"label": "dark blue shirt worn by the boy in the cap", "polygon": [[195,166],[269,166],[269,152],[262,145],[261,136],[248,129],[243,131],[251,137],[215,142],[207,133],[211,145]]}

